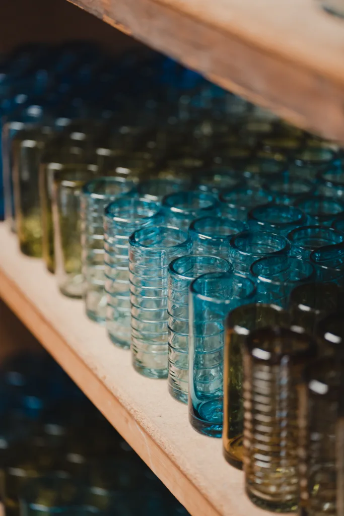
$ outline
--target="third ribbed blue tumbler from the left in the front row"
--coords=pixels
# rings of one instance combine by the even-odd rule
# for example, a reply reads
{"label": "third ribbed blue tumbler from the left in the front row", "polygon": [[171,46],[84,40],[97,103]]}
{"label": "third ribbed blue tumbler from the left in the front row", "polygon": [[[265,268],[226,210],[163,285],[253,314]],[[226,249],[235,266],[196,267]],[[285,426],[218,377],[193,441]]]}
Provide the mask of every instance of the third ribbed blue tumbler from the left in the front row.
{"label": "third ribbed blue tumbler from the left in the front row", "polygon": [[143,376],[168,376],[168,266],[191,249],[188,233],[171,226],[143,228],[129,237],[131,350]]}

